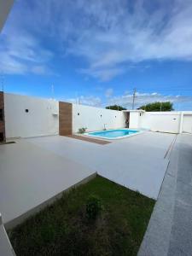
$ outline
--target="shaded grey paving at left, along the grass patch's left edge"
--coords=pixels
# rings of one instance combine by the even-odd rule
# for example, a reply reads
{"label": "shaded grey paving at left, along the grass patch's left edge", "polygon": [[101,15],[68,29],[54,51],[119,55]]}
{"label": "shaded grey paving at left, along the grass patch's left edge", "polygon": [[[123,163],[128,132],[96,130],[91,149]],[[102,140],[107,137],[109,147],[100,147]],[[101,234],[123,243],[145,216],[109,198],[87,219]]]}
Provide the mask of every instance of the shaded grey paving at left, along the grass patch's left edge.
{"label": "shaded grey paving at left, along the grass patch's left edge", "polygon": [[44,202],[96,173],[90,168],[20,140],[0,146],[0,212],[6,228]]}

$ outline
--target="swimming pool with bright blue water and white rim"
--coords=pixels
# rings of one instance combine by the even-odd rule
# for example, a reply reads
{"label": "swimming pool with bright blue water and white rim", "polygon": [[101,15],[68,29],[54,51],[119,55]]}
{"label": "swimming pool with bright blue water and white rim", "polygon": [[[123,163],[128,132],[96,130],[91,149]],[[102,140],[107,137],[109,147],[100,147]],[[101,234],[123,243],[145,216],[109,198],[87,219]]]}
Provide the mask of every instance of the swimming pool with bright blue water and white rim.
{"label": "swimming pool with bright blue water and white rim", "polygon": [[141,131],[130,130],[130,129],[117,129],[117,130],[87,132],[85,133],[85,135],[90,137],[101,137],[106,139],[118,139],[123,137],[131,137],[138,133],[141,133]]}

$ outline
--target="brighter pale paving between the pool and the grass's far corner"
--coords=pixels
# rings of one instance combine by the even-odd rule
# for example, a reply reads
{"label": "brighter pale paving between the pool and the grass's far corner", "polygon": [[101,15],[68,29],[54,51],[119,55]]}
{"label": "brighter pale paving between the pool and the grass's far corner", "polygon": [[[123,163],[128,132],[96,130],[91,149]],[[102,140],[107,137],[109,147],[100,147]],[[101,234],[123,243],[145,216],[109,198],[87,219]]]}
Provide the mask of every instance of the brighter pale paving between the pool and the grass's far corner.
{"label": "brighter pale paving between the pool and the grass's far corner", "polygon": [[168,164],[165,155],[174,137],[172,134],[144,132],[107,145],[59,136],[27,141],[156,199]]}

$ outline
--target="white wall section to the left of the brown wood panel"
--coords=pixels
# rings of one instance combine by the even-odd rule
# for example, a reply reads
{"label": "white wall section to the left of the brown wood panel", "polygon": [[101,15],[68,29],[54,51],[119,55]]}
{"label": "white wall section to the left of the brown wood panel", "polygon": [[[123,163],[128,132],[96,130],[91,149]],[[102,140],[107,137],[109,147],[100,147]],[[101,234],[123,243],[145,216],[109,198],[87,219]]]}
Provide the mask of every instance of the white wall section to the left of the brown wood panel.
{"label": "white wall section to the left of the brown wood panel", "polygon": [[59,133],[59,103],[54,100],[5,93],[4,108],[7,138]]}

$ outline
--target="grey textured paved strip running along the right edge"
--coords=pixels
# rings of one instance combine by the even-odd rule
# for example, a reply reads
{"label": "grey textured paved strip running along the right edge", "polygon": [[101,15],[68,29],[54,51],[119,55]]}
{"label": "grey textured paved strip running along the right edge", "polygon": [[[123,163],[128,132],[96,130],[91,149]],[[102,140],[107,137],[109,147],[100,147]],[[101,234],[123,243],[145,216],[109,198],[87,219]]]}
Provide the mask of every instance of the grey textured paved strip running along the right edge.
{"label": "grey textured paved strip running along the right edge", "polygon": [[192,135],[177,137],[138,255],[192,255]]}

